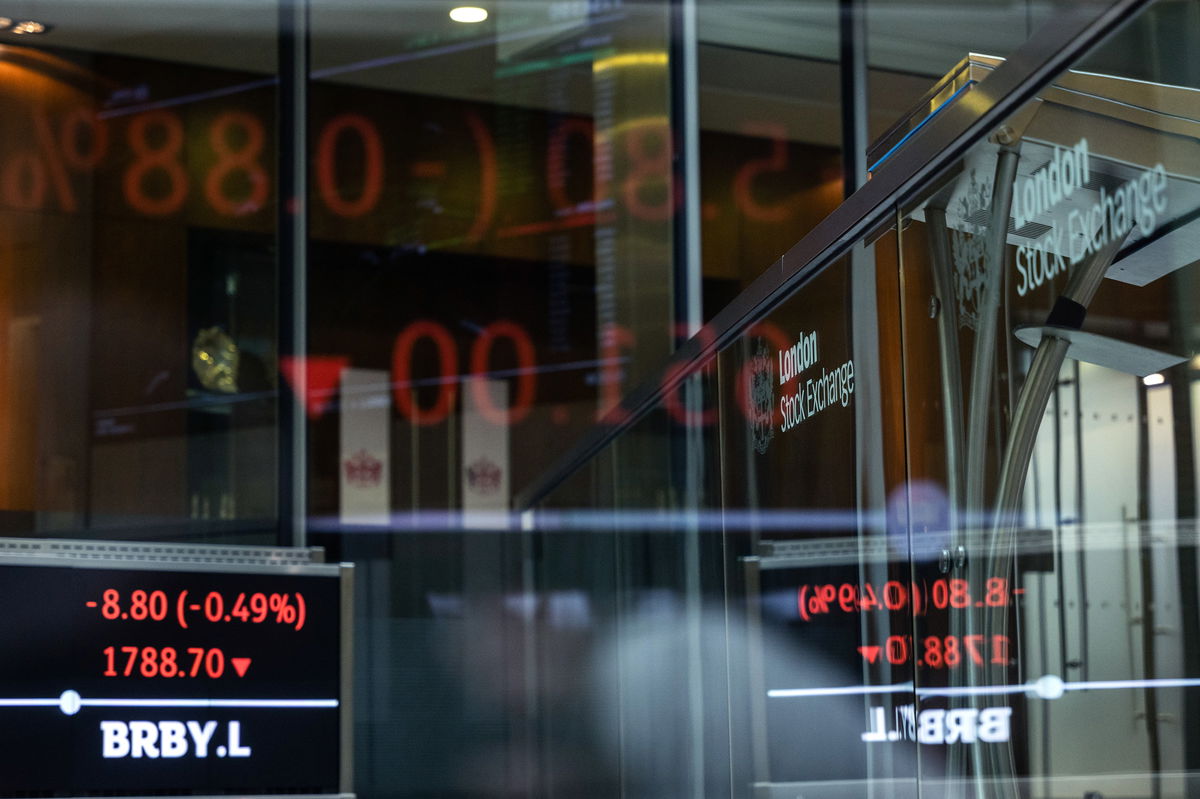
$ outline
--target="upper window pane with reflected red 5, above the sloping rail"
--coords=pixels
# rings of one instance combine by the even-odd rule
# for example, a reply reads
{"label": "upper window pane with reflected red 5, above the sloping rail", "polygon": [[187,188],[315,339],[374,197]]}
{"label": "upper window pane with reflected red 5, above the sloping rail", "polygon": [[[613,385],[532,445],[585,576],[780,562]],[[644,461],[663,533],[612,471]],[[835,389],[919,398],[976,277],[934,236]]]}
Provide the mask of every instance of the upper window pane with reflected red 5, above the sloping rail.
{"label": "upper window pane with reflected red 5, above the sloping rail", "polygon": [[698,2],[712,318],[842,199],[838,4]]}

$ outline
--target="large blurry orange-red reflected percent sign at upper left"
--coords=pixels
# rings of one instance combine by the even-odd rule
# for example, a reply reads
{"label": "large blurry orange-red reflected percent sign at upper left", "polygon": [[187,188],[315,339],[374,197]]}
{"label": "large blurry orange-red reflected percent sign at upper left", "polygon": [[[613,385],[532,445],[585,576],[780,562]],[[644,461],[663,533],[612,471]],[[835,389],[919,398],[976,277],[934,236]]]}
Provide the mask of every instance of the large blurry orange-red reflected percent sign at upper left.
{"label": "large blurry orange-red reflected percent sign at upper left", "polygon": [[8,205],[22,210],[44,208],[49,182],[59,208],[74,211],[78,203],[67,168],[76,172],[95,169],[108,149],[108,128],[86,108],[77,108],[64,116],[58,137],[44,108],[35,108],[32,119],[35,146],[16,152],[0,173],[4,198]]}

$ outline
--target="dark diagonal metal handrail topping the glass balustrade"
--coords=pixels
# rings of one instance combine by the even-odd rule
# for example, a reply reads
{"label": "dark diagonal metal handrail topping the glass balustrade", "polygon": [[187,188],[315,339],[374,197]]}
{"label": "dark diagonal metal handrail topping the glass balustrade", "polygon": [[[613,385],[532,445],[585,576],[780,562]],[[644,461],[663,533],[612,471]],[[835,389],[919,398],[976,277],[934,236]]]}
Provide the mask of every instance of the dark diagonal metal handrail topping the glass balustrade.
{"label": "dark diagonal metal handrail topping the glass balustrade", "polygon": [[898,205],[920,192],[991,128],[1150,4],[1151,0],[1116,0],[1099,10],[1084,2],[1063,8],[1054,24],[1043,25],[986,80],[971,86],[955,103],[916,131],[905,148],[889,157],[860,191],[764,270],[728,307],[667,359],[648,382],[630,392],[593,427],[572,452],[515,497],[515,507],[530,507],[545,498],[648,414],[665,392],[674,390],[755,319],[768,313],[835,258],[848,253],[857,241],[887,226]]}

